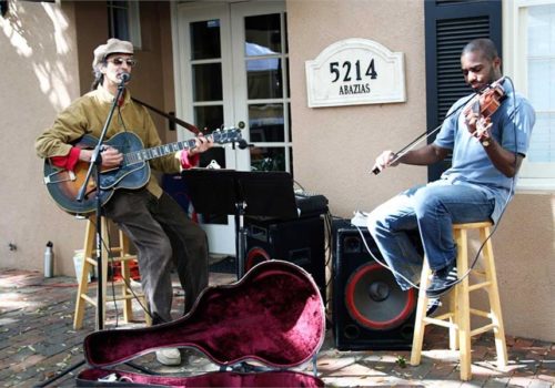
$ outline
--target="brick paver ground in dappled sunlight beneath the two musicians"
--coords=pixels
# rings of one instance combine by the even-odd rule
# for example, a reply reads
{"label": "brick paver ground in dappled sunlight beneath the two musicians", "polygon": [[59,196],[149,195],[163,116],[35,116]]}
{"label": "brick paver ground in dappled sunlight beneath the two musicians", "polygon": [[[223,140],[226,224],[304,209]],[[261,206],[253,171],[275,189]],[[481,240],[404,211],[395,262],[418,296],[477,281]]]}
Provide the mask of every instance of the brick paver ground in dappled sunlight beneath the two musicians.
{"label": "brick paver ground in dappled sunlight beneath the two musicians", "polygon": [[[230,275],[211,274],[211,284],[230,282]],[[180,289],[174,288],[179,294]],[[94,327],[94,310],[87,309],[84,328],[73,330],[77,284],[73,277],[44,279],[36,272],[0,270],[0,387],[40,386],[60,371],[83,360],[82,340]],[[175,312],[178,310],[178,306]],[[121,313],[121,307],[120,307]],[[114,325],[114,310],[107,308],[107,328]],[[138,314],[139,317],[140,313]],[[128,326],[140,326],[132,324]],[[120,318],[120,327],[121,327]],[[339,351],[331,333],[317,354],[319,376],[329,387],[553,387],[555,345],[529,338],[507,337],[509,365],[495,367],[493,336],[473,339],[473,379],[458,378],[457,355],[447,348],[446,329],[426,331],[422,364],[408,365],[408,351]],[[155,372],[199,375],[218,367],[196,350],[176,368],[160,366],[153,354],[135,364]],[[56,380],[52,387],[74,386],[84,366]],[[312,372],[312,365],[295,368]]]}

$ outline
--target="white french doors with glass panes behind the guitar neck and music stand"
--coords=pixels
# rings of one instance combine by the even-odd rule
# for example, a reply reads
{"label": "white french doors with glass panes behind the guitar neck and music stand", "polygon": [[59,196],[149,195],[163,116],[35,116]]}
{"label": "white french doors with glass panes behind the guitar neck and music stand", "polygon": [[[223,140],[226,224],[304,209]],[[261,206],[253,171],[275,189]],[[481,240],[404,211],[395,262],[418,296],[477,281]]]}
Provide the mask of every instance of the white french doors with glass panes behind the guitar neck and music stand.
{"label": "white french doors with glass panes behind the guitar neck and music stand", "polygon": [[[252,144],[216,146],[202,155],[201,166],[292,172],[284,1],[199,1],[174,11],[178,114],[206,132],[244,127]],[[232,215],[202,215],[200,222],[211,253],[235,253]]]}

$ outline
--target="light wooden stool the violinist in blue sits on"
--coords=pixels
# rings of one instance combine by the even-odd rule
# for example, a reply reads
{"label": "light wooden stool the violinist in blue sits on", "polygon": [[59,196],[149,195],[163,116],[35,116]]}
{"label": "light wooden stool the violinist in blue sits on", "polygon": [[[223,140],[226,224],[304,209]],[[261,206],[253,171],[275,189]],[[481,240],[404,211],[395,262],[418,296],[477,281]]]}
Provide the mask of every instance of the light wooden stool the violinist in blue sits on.
{"label": "light wooden stool the violinist in blue sits on", "polygon": [[[470,229],[477,229],[480,232],[480,241],[484,243],[490,236],[491,226],[492,223],[490,222],[453,225],[454,238],[457,245],[456,267],[460,278],[464,276],[468,269],[467,232]],[[470,276],[465,276],[451,292],[450,310],[435,318],[426,317],[428,298],[426,297],[425,290],[430,284],[431,270],[427,261],[424,261],[420,283],[418,304],[416,307],[411,365],[416,366],[421,363],[422,344],[426,325],[438,325],[450,329],[450,348],[452,350],[458,348],[460,350],[461,380],[466,381],[472,378],[471,337],[478,334],[493,330],[497,351],[497,366],[505,367],[507,365],[505,329],[503,327],[497,276],[495,274],[493,248],[490,238],[487,238],[481,256],[484,259],[484,270],[480,272],[473,269],[472,274],[477,275],[482,282],[470,285]],[[471,308],[470,293],[476,289],[485,289],[487,292],[490,297],[490,312]],[[471,314],[487,318],[490,324],[472,330]]]}

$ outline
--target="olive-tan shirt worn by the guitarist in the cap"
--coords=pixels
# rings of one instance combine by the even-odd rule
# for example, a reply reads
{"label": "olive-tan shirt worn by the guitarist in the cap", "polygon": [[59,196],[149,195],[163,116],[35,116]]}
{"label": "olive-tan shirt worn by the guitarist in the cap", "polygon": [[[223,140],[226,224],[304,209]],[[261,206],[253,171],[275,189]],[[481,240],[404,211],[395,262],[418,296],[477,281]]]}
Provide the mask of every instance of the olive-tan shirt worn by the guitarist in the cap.
{"label": "olive-tan shirt worn by the guitarist in the cap", "polygon": [[[37,154],[40,157],[67,156],[73,147],[71,143],[84,134],[100,137],[113,99],[114,96],[102,86],[77,99],[58,114],[54,124],[37,139]],[[145,149],[162,144],[149,112],[131,100],[129,91],[125,92],[123,104],[113,113],[105,140],[124,131],[137,134]],[[150,165],[163,173],[180,171],[180,162],[173,154],[153,159]],[[162,188],[152,175],[147,188],[157,197],[162,195]]]}

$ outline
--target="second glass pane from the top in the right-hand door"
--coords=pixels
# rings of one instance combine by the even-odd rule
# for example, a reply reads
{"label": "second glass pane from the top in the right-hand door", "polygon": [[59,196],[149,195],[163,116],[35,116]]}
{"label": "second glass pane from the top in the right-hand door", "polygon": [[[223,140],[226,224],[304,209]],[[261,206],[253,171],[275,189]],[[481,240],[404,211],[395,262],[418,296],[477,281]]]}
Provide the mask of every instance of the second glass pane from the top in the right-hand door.
{"label": "second glass pane from the top in the right-hand door", "polygon": [[246,60],[246,88],[249,100],[281,99],[282,75],[280,59]]}

